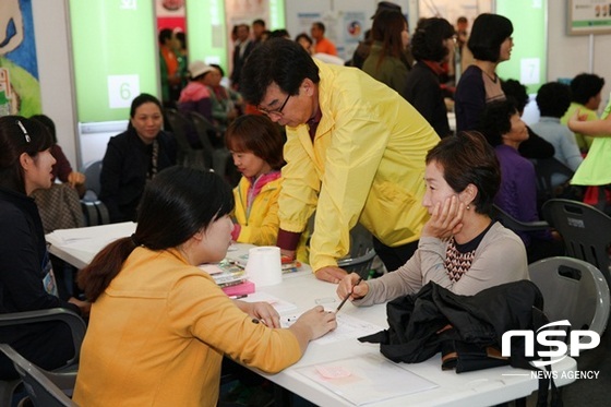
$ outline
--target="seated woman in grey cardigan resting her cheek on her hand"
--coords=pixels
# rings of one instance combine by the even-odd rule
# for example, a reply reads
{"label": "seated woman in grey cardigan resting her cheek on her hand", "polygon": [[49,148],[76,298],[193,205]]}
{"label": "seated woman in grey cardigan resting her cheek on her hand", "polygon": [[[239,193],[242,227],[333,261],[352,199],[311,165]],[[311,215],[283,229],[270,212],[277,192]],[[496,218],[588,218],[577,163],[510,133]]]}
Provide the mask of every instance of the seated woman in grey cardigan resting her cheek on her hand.
{"label": "seated woman in grey cardigan resting her cheek on her hand", "polygon": [[470,296],[529,278],[524,243],[490,217],[501,172],[481,134],[443,139],[427,155],[424,180],[422,204],[431,217],[414,256],[394,273],[359,285],[359,276],[349,274],[337,287],[340,298],[351,291],[356,306],[382,303],[418,292],[429,282]]}

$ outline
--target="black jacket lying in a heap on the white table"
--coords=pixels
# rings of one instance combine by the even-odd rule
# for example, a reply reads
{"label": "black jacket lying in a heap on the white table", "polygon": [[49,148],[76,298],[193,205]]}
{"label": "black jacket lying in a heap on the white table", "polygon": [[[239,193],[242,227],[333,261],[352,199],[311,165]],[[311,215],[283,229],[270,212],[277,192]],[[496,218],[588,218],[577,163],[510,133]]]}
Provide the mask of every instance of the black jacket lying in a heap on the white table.
{"label": "black jacket lying in a heap on the white table", "polygon": [[[407,363],[431,358],[446,340],[500,349],[506,331],[534,327],[534,307],[542,310],[543,297],[529,280],[494,286],[475,296],[459,296],[431,282],[416,295],[388,302],[390,328],[359,340],[379,342],[385,357]],[[443,331],[447,325],[453,330]],[[520,354],[524,343],[513,340],[512,357]]]}

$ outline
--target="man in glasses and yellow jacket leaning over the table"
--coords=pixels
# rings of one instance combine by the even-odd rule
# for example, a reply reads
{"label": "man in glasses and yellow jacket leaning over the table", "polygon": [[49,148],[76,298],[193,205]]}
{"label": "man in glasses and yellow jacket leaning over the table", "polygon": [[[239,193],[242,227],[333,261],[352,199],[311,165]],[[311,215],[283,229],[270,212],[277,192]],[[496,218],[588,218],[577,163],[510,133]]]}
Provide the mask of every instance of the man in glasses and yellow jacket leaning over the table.
{"label": "man in glasses and yellow jacket leaning over the table", "polygon": [[287,129],[277,244],[291,254],[315,211],[310,264],[338,283],[337,260],[362,224],[388,271],[418,247],[428,219],[424,156],[439,142],[420,113],[352,68],[313,60],[286,39],[262,44],[242,71],[242,95]]}

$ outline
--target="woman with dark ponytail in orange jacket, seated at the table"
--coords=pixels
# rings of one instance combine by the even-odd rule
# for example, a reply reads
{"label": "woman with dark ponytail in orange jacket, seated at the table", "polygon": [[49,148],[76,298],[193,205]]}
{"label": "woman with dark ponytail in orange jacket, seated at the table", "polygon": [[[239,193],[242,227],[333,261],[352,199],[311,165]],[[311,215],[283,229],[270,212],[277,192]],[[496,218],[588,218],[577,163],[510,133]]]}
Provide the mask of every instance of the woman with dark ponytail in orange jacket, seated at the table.
{"label": "woman with dark ponytail in orange jacket, seated at the table", "polygon": [[269,304],[229,299],[196,267],[225,258],[232,207],[215,173],[170,167],[147,184],[135,234],[106,247],[79,277],[93,301],[80,406],[215,406],[224,355],[274,373],[335,328],[322,307],[279,328]]}

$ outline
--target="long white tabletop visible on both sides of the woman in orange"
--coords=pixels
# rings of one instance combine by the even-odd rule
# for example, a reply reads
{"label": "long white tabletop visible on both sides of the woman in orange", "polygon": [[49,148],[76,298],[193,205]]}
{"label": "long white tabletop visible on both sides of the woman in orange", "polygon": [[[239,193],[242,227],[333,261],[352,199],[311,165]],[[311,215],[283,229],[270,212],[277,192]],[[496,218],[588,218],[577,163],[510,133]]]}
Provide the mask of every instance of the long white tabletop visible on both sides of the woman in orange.
{"label": "long white tabletop visible on both sides of the woman in orange", "polygon": [[[80,229],[56,230],[47,235],[50,243],[49,251],[60,259],[82,268],[115,239],[130,236],[135,230],[135,224],[124,223],[115,225],[94,226]],[[236,247],[232,250],[244,250],[248,246]],[[295,307],[281,314],[297,315],[318,303],[334,310],[339,304],[335,294],[336,285],[318,280],[311,272],[285,274],[283,283],[276,286],[257,287],[263,292],[292,303]],[[346,303],[342,314],[387,328],[385,306],[357,308]],[[359,336],[359,335],[357,335]],[[295,366],[278,374],[260,373],[292,393],[320,406],[352,406],[347,399],[334,394],[321,384],[299,373],[299,369],[334,360],[373,356],[383,358],[380,346],[361,344],[355,337],[342,338],[336,342],[318,340],[310,344],[303,358]],[[532,379],[530,371],[510,367],[494,368],[456,374],[454,371],[441,370],[441,356],[422,363],[399,363],[408,371],[429,380],[438,385],[433,390],[414,393],[376,403],[376,406],[446,406],[468,405],[489,406],[528,396],[538,388],[537,379]],[[559,372],[575,371],[577,366],[573,358],[566,357],[553,368]],[[558,385],[572,383],[572,379],[563,379],[559,374]]]}

